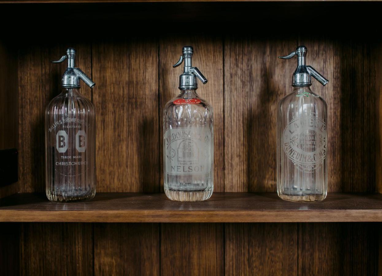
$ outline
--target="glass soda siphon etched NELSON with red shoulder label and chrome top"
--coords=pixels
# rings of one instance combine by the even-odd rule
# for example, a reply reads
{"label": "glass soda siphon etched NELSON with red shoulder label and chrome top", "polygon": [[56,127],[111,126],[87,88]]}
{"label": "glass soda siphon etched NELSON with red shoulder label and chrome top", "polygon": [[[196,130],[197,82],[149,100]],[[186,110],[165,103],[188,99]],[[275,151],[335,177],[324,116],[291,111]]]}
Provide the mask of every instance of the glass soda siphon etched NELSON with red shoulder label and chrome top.
{"label": "glass soda siphon etched NELSON with red shoulder label and chrome top", "polygon": [[196,93],[196,77],[207,79],[191,64],[193,47],[183,47],[179,77],[180,94],[164,108],[164,190],[176,201],[209,199],[214,190],[214,128],[212,106]]}

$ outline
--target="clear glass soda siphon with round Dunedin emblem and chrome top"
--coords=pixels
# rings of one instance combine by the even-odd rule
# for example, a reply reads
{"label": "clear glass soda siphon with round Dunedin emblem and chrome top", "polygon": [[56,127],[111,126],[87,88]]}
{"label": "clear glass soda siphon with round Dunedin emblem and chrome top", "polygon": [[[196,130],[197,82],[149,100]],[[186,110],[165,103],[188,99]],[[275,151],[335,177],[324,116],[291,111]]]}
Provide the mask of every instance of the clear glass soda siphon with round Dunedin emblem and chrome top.
{"label": "clear glass soda siphon with round Dunedin emblem and chrome top", "polygon": [[277,194],[283,200],[312,202],[327,195],[327,104],[312,92],[311,76],[323,86],[328,80],[305,65],[306,47],[279,58],[297,56],[291,94],[278,105]]}

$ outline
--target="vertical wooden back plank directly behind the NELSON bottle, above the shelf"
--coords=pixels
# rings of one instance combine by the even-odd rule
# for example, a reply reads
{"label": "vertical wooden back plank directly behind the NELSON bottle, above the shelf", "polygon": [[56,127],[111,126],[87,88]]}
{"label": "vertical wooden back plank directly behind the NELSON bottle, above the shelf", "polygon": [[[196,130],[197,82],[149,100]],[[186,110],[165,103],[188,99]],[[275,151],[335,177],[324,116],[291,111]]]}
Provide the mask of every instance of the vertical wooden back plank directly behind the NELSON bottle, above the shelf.
{"label": "vertical wooden back plank directly behind the NELSON bottle, above the shelf", "polygon": [[[183,64],[172,68],[182,54],[183,46],[194,47],[193,66],[206,76],[206,85],[199,80],[197,93],[209,102],[214,110],[214,191],[223,192],[223,42],[221,37],[211,36],[165,36],[160,39],[159,46],[159,77],[160,77],[160,149],[163,152],[163,107],[180,90],[179,75],[183,73]],[[163,160],[161,160],[161,185],[163,189]]]}

